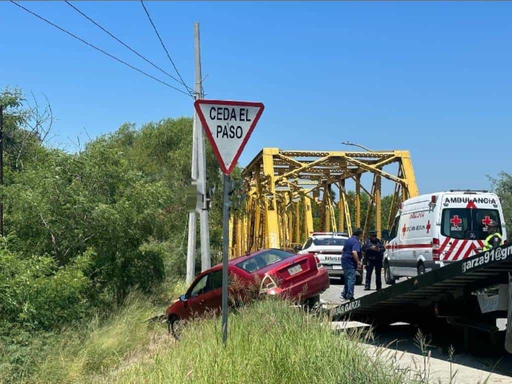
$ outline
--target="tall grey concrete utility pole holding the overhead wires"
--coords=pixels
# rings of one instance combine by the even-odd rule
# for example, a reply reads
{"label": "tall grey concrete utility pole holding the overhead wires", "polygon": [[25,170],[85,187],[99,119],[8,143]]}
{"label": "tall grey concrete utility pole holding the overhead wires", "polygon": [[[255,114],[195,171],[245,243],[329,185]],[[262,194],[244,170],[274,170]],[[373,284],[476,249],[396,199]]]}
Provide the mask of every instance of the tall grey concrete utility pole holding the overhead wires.
{"label": "tall grey concrete utility pole holding the overhead wires", "polygon": [[[195,99],[203,98],[203,83],[201,76],[201,48],[199,40],[199,23],[194,23],[194,52],[195,52]],[[204,133],[199,117],[194,110],[193,140],[192,140],[192,179],[197,180],[197,188],[203,197],[199,210],[201,231],[201,271],[210,268],[210,233],[208,228],[208,210],[206,202],[206,156],[204,148]],[[187,276],[190,284],[195,276],[196,261],[196,212],[188,214],[188,245],[187,245]]]}

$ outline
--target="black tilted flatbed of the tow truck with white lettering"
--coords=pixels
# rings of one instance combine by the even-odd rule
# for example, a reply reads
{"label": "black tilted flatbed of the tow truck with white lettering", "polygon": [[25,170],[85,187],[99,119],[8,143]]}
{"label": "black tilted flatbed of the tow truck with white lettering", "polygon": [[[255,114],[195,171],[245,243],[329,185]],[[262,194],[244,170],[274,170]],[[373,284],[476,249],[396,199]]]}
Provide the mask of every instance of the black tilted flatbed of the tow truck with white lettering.
{"label": "black tilted flatbed of the tow truck with white lettering", "polygon": [[[443,321],[462,326],[465,332],[477,329],[493,333],[497,331],[496,318],[507,317],[506,304],[505,308],[501,305],[483,311],[475,291],[502,285],[508,288],[510,302],[509,272],[512,245],[505,244],[343,303],[331,308],[330,315],[333,321],[359,321],[374,326],[407,322],[433,327]],[[512,331],[511,313],[509,305],[507,332]]]}

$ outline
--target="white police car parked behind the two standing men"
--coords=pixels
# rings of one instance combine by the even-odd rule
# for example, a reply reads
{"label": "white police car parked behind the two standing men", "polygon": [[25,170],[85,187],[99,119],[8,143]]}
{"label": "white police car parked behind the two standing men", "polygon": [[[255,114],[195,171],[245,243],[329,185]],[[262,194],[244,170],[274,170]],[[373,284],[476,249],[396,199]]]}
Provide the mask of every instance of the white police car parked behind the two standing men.
{"label": "white police car parked behind the two standing men", "polygon": [[[345,232],[313,232],[302,247],[294,250],[315,254],[329,277],[343,279],[342,252],[348,238]],[[362,284],[362,269],[356,271],[356,284]]]}

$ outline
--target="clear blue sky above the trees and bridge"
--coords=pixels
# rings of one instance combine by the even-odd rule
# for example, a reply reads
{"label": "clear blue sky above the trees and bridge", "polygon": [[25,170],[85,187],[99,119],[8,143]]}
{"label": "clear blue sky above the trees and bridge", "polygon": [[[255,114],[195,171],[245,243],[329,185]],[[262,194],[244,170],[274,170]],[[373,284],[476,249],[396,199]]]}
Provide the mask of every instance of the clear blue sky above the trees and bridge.
{"label": "clear blue sky above the trees and bridge", "polygon": [[[65,3],[22,4],[172,81]],[[171,73],[139,2],[74,4]],[[512,172],[510,2],[145,4],[187,83],[197,20],[206,98],[265,104],[241,165],[264,146],[349,150],[339,142],[350,140],[410,150],[420,193],[487,188],[486,174]],[[0,34],[0,86],[47,95],[56,143],[193,112],[186,96],[7,2]]]}

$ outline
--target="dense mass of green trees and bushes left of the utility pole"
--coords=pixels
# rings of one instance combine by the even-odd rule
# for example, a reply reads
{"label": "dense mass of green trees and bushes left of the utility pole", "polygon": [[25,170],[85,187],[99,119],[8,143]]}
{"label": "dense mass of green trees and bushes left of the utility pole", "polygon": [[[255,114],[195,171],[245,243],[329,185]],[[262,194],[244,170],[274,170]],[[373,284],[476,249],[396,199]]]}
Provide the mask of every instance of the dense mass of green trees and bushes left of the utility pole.
{"label": "dense mass of green trees and bushes left of the utility pole", "polygon": [[[140,130],[125,123],[68,153],[45,142],[49,103],[42,109],[19,90],[6,90],[0,102],[9,138],[0,188],[7,234],[0,334],[59,327],[122,303],[133,288],[155,292],[166,276],[184,274],[192,119]],[[210,186],[220,184],[209,147],[207,174]],[[214,250],[221,248],[218,196],[210,215]]]}

